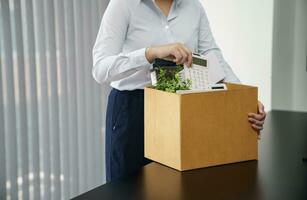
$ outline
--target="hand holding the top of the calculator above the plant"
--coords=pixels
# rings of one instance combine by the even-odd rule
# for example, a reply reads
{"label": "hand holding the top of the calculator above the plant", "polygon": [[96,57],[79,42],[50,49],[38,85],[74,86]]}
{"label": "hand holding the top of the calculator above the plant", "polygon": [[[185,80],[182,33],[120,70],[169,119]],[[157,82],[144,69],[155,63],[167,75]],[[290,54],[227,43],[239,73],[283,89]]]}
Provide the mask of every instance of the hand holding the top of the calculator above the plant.
{"label": "hand holding the top of the calculator above the plant", "polygon": [[178,65],[192,65],[192,52],[181,43],[148,47],[145,54],[150,63],[156,58],[171,58]]}

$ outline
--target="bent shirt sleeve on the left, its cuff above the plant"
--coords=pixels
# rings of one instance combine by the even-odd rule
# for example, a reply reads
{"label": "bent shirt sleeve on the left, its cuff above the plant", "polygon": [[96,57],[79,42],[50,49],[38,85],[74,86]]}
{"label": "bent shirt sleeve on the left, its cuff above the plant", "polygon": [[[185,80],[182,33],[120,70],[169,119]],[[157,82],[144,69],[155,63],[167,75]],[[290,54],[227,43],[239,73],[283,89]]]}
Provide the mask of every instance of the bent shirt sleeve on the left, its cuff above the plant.
{"label": "bent shirt sleeve on the left, its cuff above the plant", "polygon": [[126,1],[110,1],[101,21],[93,48],[92,74],[98,83],[123,79],[144,67],[150,68],[145,48],[122,53],[129,25]]}

